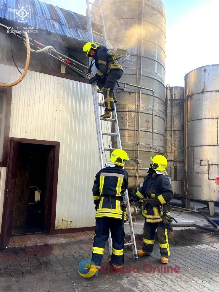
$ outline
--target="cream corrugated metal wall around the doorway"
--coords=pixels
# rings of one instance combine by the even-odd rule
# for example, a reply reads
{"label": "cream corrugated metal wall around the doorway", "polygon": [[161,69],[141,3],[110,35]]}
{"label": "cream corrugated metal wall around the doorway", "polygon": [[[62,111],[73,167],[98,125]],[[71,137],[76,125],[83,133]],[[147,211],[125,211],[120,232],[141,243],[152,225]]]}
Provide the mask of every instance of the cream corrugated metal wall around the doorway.
{"label": "cream corrugated metal wall around the doorway", "polygon": [[[0,80],[20,73],[0,64]],[[13,87],[10,137],[60,141],[56,229],[94,226],[99,156],[91,86],[28,71]]]}

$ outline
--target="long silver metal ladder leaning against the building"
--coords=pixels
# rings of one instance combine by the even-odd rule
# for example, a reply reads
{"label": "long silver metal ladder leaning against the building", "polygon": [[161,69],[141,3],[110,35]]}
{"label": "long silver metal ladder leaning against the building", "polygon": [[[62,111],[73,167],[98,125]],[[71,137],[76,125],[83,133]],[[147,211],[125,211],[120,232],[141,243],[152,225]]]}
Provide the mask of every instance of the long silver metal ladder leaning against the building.
{"label": "long silver metal ladder leaning against the building", "polygon": [[[96,43],[102,46],[109,47],[107,45],[101,0],[97,0],[95,2],[96,3],[93,4],[89,2],[89,0],[86,0],[86,3],[87,3],[86,17],[87,17],[89,40],[91,42],[95,41]],[[98,2],[99,2],[99,5],[97,5]],[[92,7],[94,8],[94,11],[90,10],[90,5],[92,5]],[[95,27],[95,30],[93,26]],[[96,30],[101,31],[101,33]],[[95,40],[94,40],[94,36],[96,38]],[[103,95],[102,93],[97,92],[96,83],[92,84],[92,94],[93,94],[93,102],[94,102],[94,113],[95,113],[96,132],[97,132],[97,140],[98,140],[98,148],[99,148],[99,158],[100,158],[101,168],[103,168],[104,167],[103,154],[105,157],[108,157],[110,154],[110,151],[114,150],[112,148],[111,138],[116,139],[117,148],[122,149],[122,144],[121,144],[120,133],[119,133],[116,107],[115,107],[115,110],[112,112],[112,119],[101,118],[100,117],[101,108],[104,107]],[[109,127],[109,124],[110,124],[110,127]],[[109,128],[115,129],[115,133],[107,132],[107,129],[109,130]],[[102,129],[104,129],[104,131],[102,131]],[[108,144],[107,147],[104,147],[104,141],[106,141],[106,138],[110,138],[110,145]],[[107,139],[107,142],[108,142],[108,139]],[[109,151],[108,155],[107,155],[107,151]],[[131,242],[125,243],[125,246],[132,246],[133,256],[134,258],[137,258],[138,256],[137,256],[137,248],[136,248],[136,242],[135,242],[135,234],[134,234],[134,228],[133,228],[133,222],[132,222],[132,217],[131,217],[131,210],[130,210],[127,190],[125,191],[125,201],[127,201],[128,225],[130,228],[130,235],[131,235]],[[112,254],[111,237],[109,238],[109,249],[110,249],[110,254]]]}

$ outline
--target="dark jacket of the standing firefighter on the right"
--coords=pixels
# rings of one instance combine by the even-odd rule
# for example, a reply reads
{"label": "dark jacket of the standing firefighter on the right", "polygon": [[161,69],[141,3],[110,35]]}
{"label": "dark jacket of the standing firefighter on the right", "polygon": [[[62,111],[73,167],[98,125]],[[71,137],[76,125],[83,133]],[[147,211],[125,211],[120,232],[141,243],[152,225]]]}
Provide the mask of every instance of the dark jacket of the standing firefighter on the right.
{"label": "dark jacket of the standing firefighter on the right", "polygon": [[159,214],[159,206],[162,206],[165,213],[170,215],[168,202],[173,198],[173,189],[168,178],[162,174],[152,176],[148,174],[140,191],[137,191],[130,199],[134,202],[144,198],[154,198],[152,207],[151,204],[146,204],[142,211],[142,216],[146,218],[146,222],[157,223],[161,222],[162,218]]}

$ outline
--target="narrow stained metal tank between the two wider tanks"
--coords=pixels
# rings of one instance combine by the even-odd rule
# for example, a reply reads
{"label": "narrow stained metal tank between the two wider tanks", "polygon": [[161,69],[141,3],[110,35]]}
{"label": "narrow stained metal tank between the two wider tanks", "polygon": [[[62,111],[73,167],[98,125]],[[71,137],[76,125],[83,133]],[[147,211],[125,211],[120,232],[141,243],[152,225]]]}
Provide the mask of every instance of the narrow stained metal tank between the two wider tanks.
{"label": "narrow stained metal tank between the two wider tanks", "polygon": [[166,86],[165,91],[165,156],[168,177],[175,197],[184,205],[184,87]]}

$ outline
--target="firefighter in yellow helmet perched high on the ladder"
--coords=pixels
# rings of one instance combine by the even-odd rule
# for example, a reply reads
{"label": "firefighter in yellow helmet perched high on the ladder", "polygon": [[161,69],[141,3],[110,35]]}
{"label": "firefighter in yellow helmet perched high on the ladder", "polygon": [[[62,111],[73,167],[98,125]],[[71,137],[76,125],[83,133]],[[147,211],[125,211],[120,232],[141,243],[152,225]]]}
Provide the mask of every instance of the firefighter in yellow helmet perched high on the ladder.
{"label": "firefighter in yellow helmet perched high on the ladder", "polygon": [[97,73],[89,80],[92,84],[97,81],[97,86],[104,95],[105,113],[101,117],[110,118],[114,110],[114,103],[117,101],[113,90],[123,75],[123,67],[118,62],[116,55],[104,46],[88,42],[84,45],[83,51],[87,57],[95,59]]}

